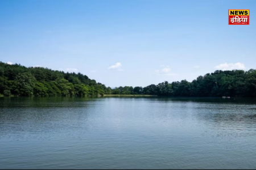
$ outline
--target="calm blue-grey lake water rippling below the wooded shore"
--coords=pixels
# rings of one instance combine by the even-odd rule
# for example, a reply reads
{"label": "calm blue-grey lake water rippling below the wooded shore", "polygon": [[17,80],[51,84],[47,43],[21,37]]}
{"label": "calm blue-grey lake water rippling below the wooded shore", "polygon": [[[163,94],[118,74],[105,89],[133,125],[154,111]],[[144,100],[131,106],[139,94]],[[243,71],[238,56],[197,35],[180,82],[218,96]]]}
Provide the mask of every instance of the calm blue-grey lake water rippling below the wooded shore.
{"label": "calm blue-grey lake water rippling below the wooded shore", "polygon": [[0,168],[255,169],[255,99],[0,98]]}

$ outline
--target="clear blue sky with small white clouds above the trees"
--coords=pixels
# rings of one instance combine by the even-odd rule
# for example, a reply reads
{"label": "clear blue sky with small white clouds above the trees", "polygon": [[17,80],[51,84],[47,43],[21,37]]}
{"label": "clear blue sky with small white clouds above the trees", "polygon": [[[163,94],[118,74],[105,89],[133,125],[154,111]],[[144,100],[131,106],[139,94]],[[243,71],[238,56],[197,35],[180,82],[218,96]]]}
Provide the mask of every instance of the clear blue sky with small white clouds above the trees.
{"label": "clear blue sky with small white clouds above the trees", "polygon": [[[228,25],[250,9],[250,25]],[[256,1],[3,1],[0,61],[147,86],[256,69]]]}

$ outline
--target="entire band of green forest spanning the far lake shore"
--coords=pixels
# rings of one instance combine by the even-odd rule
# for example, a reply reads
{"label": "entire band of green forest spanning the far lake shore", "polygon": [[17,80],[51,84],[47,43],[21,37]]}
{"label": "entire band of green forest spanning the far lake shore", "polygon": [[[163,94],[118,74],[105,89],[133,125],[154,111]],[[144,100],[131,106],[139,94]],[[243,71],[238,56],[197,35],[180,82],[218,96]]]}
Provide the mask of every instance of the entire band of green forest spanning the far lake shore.
{"label": "entire band of green forest spanning the far lake shore", "polygon": [[146,87],[106,87],[81,73],[0,62],[0,94],[4,96],[158,95],[173,97],[256,97],[256,70],[216,70],[192,82],[167,81]]}

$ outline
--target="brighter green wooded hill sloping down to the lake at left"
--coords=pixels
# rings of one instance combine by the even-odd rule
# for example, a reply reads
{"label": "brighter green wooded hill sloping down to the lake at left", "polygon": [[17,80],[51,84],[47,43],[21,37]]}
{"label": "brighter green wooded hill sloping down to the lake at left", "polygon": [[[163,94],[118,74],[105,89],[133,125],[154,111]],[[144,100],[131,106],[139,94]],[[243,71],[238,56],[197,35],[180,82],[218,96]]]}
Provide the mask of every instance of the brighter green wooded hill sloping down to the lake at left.
{"label": "brighter green wooded hill sloping down to the lake at left", "polygon": [[98,96],[110,93],[110,87],[81,73],[0,62],[0,94],[5,96]]}

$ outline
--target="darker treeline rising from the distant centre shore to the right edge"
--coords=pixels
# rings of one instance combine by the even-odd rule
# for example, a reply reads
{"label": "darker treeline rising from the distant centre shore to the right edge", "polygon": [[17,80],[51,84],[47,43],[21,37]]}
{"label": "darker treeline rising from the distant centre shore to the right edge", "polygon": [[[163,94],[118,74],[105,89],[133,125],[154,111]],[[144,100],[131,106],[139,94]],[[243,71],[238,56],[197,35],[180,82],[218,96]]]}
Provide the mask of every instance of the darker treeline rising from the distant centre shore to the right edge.
{"label": "darker treeline rising from the distant centre shore to the right edge", "polygon": [[188,82],[168,83],[147,87],[117,87],[112,94],[144,94],[177,97],[256,97],[256,70],[217,70]]}

